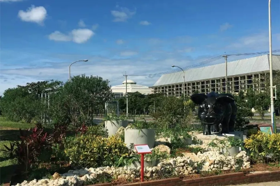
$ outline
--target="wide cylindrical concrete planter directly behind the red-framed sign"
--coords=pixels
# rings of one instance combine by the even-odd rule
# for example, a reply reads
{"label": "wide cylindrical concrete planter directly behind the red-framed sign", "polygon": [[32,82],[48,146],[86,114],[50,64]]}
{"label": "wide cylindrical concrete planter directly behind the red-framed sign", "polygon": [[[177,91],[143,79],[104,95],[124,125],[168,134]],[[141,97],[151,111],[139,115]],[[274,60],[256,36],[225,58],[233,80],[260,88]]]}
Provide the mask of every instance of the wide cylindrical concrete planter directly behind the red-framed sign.
{"label": "wide cylindrical concrete planter directly behind the red-framed sign", "polygon": [[125,129],[125,144],[129,146],[147,144],[150,149],[155,146],[155,129]]}

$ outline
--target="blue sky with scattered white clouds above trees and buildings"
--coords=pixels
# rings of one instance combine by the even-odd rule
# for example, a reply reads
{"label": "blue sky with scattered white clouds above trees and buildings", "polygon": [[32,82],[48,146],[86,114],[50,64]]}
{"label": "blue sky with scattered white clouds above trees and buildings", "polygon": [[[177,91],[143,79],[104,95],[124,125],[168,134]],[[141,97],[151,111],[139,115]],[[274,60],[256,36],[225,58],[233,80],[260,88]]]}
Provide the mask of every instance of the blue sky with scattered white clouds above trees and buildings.
{"label": "blue sky with scattered white clouds above trees and buildings", "polygon": [[[0,0],[0,94],[30,81],[86,74],[113,80],[186,67],[224,53],[268,51],[268,1]],[[280,49],[280,4],[272,0]],[[252,56],[250,56],[252,57]],[[229,57],[228,60],[246,58]],[[211,64],[220,63],[217,60]],[[207,65],[211,65],[207,64]],[[160,76],[131,76],[153,85]],[[117,85],[124,77],[112,81]]]}

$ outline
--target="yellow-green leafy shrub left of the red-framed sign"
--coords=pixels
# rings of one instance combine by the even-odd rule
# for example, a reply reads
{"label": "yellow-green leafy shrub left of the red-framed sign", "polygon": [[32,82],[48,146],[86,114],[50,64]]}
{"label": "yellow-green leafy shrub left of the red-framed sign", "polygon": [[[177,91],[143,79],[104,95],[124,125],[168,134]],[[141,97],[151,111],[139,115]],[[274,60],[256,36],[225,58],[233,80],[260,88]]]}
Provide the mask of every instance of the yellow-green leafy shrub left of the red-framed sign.
{"label": "yellow-green leafy shrub left of the red-framed sign", "polygon": [[131,151],[118,137],[80,135],[67,140],[65,153],[76,166],[89,168],[111,165],[115,155],[127,157]]}

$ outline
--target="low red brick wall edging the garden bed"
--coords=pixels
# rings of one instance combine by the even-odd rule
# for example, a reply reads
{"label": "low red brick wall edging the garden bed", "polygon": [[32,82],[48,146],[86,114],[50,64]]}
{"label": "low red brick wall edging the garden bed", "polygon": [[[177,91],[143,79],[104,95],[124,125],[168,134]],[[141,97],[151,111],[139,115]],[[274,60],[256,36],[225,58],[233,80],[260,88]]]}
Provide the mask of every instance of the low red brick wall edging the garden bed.
{"label": "low red brick wall edging the garden bed", "polygon": [[[122,186],[220,186],[241,183],[259,183],[280,181],[280,171],[271,171],[258,174],[230,173],[203,178],[181,180],[180,178],[168,178],[162,180],[131,183]],[[97,184],[91,186],[111,186],[111,183]]]}

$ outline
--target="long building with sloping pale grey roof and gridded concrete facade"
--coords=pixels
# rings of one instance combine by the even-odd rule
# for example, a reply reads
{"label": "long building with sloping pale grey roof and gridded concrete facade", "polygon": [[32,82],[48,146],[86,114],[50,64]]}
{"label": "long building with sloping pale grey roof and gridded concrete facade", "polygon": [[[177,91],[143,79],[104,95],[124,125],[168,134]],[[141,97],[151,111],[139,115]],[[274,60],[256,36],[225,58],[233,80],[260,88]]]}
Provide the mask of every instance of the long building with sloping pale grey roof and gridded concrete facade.
{"label": "long building with sloping pale grey roof and gridded concrete facade", "polygon": [[[272,55],[272,69],[280,70],[280,55]],[[201,68],[185,70],[185,90],[183,90],[183,71],[162,75],[151,86],[153,93],[163,93],[165,96],[190,96],[195,92],[209,93],[225,92],[225,63]],[[227,89],[232,94],[240,90],[246,92],[250,88],[261,90],[264,84],[255,86],[253,81],[263,82],[263,77],[269,73],[269,55],[246,58],[227,62]]]}

